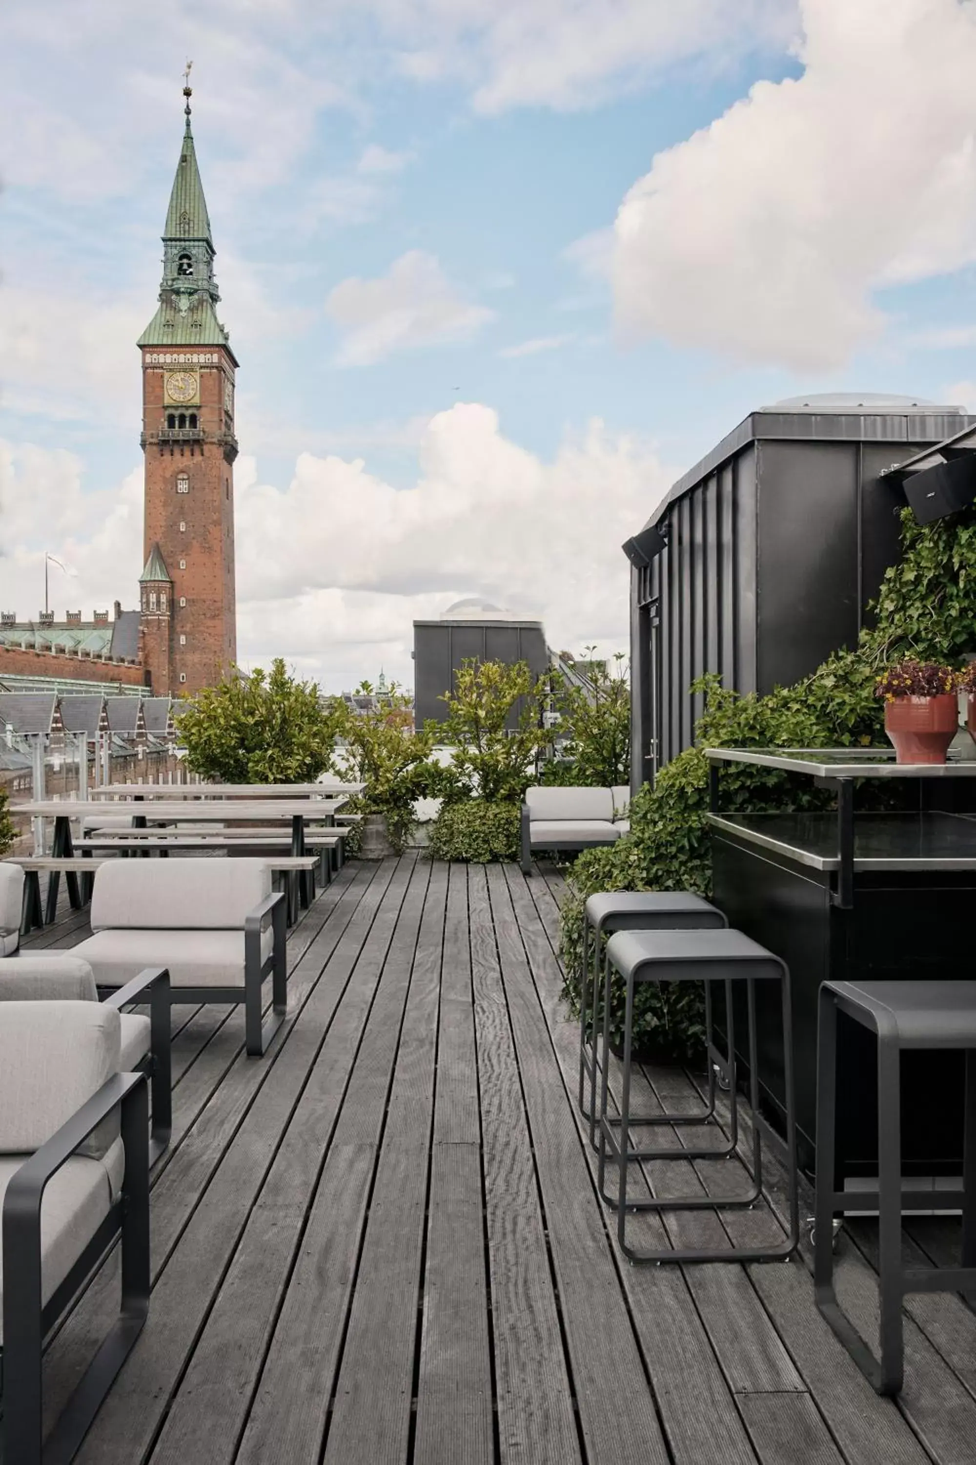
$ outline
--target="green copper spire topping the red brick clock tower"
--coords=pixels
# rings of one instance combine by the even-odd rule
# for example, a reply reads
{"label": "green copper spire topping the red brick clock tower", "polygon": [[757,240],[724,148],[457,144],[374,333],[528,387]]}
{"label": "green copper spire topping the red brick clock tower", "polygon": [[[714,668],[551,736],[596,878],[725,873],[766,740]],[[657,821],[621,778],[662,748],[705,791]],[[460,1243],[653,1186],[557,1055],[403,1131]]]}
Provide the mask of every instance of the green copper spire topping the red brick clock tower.
{"label": "green copper spire topping the red brick clock tower", "polygon": [[228,346],[227,331],[217,319],[219,292],[214,278],[215,249],[190,130],[189,85],[183,88],[183,95],[186,127],[162,234],[159,309],[138,344]]}

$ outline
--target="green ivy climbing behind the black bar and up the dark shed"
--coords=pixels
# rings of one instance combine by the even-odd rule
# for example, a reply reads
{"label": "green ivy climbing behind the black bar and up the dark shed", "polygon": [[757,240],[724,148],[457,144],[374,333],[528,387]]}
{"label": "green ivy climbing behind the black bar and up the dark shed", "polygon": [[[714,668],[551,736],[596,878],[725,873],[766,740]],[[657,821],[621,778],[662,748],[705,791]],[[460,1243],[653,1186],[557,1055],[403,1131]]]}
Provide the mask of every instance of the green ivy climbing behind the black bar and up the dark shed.
{"label": "green ivy climbing behind the black bar and up the dark shed", "polygon": [[[768,696],[739,696],[717,677],[695,684],[704,713],[695,746],[679,753],[631,803],[631,834],[575,861],[562,907],[562,955],[566,996],[578,1011],[581,920],[597,891],[697,891],[710,894],[711,851],[707,747],[871,747],[885,741],[884,705],[874,694],[879,671],[891,661],[958,662],[976,650],[976,508],[920,526],[901,513],[903,558],[887,573],[874,605],[875,624],[853,650],[841,649],[793,687]],[[862,800],[891,803],[893,788],[869,787]],[[812,779],[726,763],[720,778],[723,810],[757,813],[828,809],[831,795]],[[613,990],[613,1040],[622,1031],[622,992]],[[639,1049],[669,1049],[676,1059],[701,1049],[702,1002],[647,984],[637,1006],[634,1040]]]}

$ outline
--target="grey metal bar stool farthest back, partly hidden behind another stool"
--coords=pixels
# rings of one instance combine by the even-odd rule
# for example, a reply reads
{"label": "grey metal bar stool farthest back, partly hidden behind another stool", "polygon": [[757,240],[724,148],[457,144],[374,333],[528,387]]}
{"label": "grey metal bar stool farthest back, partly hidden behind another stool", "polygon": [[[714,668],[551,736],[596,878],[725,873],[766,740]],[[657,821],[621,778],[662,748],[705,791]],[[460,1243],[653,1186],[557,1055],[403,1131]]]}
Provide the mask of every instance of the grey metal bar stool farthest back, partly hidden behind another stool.
{"label": "grey metal bar stool farthest back, partly hidden behind another stool", "polygon": [[[720,910],[710,905],[701,895],[691,891],[603,891],[587,900],[582,911],[582,982],[579,992],[579,1109],[590,1121],[590,1144],[597,1147],[597,1021],[600,1012],[600,967],[601,938],[617,930],[702,930],[727,926]],[[593,963],[590,961],[590,933],[593,933]],[[591,982],[587,987],[587,979]],[[732,1004],[727,1004],[732,1012]],[[708,1106],[701,1113],[686,1115],[631,1115],[631,1124],[708,1124],[716,1113],[716,1065],[729,1084],[732,1094],[733,1149],[737,1134],[737,1115],[732,1064],[735,1049],[730,1042],[729,1056],[718,1053],[711,1031],[711,984],[705,983],[705,1045],[708,1049]],[[606,1049],[604,1049],[606,1058]],[[585,1087],[590,1081],[590,1108]],[[615,1122],[612,1118],[609,1122]]]}

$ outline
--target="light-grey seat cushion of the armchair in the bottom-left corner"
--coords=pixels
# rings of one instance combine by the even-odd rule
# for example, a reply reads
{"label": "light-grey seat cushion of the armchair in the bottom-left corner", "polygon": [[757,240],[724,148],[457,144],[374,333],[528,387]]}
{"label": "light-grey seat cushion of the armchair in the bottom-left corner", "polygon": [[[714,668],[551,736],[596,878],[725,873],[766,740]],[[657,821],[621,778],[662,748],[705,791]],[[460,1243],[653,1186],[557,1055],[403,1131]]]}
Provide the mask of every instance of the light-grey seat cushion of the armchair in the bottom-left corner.
{"label": "light-grey seat cushion of the armchair in the bottom-left corner", "polygon": [[[25,1154],[0,1154],[0,1207],[10,1178]],[[113,1194],[123,1178],[123,1149],[117,1140],[105,1160],[76,1154],[47,1184],[41,1201],[41,1295],[47,1302],[72,1270],[82,1251],[108,1214]],[[3,1299],[3,1256],[0,1256],[0,1301]],[[0,1308],[0,1342],[3,1310]]]}

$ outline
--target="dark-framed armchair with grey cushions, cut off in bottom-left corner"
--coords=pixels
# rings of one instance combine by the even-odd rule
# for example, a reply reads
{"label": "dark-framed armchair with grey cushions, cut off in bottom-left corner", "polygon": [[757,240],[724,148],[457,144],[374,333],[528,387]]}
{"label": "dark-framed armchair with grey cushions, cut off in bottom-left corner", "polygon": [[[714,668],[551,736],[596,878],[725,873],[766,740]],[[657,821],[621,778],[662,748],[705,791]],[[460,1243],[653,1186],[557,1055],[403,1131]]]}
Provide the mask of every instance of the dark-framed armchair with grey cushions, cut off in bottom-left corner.
{"label": "dark-framed armchair with grey cushions, cut off in bottom-left corner", "polygon": [[[9,1002],[0,1021],[3,1458],[70,1461],[149,1308],[149,1108],[120,1069],[119,1012]],[[41,1351],[121,1236],[121,1308],[42,1443]]]}

